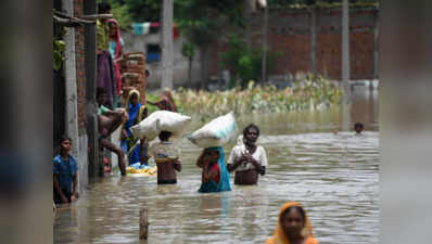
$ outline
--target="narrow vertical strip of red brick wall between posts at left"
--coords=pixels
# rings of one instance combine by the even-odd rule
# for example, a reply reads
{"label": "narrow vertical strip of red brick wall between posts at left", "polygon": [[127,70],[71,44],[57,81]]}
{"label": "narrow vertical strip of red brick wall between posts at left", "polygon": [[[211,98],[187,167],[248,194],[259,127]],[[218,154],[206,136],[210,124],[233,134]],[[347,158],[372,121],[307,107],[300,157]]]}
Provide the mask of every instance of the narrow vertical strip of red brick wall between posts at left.
{"label": "narrow vertical strip of red brick wall between posts at left", "polygon": [[[79,17],[84,13],[84,0],[74,0],[74,15]],[[86,131],[86,65],[85,65],[85,28],[75,28],[75,61],[78,94],[78,129]]]}

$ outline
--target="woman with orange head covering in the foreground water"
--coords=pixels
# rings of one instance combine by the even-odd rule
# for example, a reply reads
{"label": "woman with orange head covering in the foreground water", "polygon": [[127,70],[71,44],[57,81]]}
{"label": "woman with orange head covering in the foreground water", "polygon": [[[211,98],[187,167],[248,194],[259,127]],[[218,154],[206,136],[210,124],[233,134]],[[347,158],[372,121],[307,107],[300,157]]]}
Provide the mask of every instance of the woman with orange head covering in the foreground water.
{"label": "woman with orange head covering in the foreground water", "polygon": [[275,234],[267,244],[318,244],[312,233],[309,219],[302,205],[285,203],[279,211]]}

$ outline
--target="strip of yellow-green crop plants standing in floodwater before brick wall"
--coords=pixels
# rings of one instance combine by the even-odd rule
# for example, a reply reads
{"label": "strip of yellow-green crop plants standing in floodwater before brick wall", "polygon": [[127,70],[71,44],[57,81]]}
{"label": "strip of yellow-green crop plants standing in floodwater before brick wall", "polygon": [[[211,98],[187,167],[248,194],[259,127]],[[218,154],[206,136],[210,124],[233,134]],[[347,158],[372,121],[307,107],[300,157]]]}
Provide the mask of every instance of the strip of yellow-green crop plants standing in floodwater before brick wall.
{"label": "strip of yellow-green crop plants standing in floodwater before brick wall", "polygon": [[[315,110],[340,103],[341,89],[335,85],[317,78],[295,81],[292,88],[277,89],[275,86],[255,86],[250,81],[242,90],[236,87],[226,91],[208,92],[180,88],[173,92],[180,113],[214,117],[234,111],[236,114],[282,113],[289,111]],[[158,95],[148,93],[148,99],[156,101]],[[149,106],[149,112],[157,108]]]}

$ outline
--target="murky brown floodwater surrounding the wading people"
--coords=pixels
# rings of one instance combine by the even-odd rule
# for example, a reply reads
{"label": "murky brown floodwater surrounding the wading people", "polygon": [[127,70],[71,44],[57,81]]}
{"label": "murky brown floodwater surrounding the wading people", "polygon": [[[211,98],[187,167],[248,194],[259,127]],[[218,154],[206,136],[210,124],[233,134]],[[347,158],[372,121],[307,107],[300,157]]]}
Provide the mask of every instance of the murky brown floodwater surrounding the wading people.
{"label": "murky brown floodwater surrounding the wading people", "polygon": [[[365,123],[364,136],[333,133],[341,128],[339,110],[241,117],[240,128],[259,125],[267,150],[269,166],[258,185],[199,194],[200,150],[182,140],[177,185],[157,185],[155,177],[101,179],[58,213],[54,241],[139,243],[139,210],[147,207],[148,243],[264,243],[279,208],[292,200],[308,210],[320,243],[378,243],[377,95],[356,95],[352,121]],[[227,157],[232,146],[225,146]]]}

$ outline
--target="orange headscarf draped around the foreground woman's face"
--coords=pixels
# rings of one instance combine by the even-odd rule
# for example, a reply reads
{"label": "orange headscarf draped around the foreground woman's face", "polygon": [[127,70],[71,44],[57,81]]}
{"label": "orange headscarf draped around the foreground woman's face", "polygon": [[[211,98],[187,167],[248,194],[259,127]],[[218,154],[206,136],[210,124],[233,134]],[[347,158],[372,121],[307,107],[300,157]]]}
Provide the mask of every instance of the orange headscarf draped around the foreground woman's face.
{"label": "orange headscarf draped around the foreground woman's face", "polygon": [[[279,211],[279,218],[278,218],[278,223],[276,224],[276,230],[274,233],[274,236],[267,240],[267,244],[290,244],[290,241],[288,240],[285,233],[283,232],[283,227],[282,227],[282,217],[283,214],[287,211],[288,208],[292,207],[292,206],[298,206],[302,207],[303,206],[300,203],[296,202],[288,202],[285,204],[283,204],[283,206],[280,208]],[[312,233],[312,226],[309,222],[309,219],[307,218],[306,211],[305,211],[305,227],[302,230],[302,234],[303,236],[307,237],[313,237],[313,233]],[[309,242],[306,242],[306,244]],[[312,243],[316,243],[316,242],[312,242]]]}

